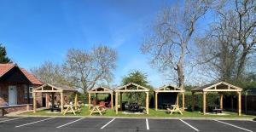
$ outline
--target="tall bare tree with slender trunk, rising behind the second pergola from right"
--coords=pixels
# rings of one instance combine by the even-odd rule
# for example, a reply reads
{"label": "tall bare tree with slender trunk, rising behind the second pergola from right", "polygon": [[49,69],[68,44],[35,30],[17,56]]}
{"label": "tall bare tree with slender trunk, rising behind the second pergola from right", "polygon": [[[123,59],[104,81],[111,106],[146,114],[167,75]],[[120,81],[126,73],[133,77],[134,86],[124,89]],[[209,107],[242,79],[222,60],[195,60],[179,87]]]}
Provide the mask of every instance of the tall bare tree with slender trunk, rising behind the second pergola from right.
{"label": "tall bare tree with slender trunk, rising behind the second pergola from right", "polygon": [[[182,2],[180,2],[182,3]],[[186,0],[181,6],[168,6],[157,15],[153,33],[144,41],[143,54],[151,55],[151,64],[161,72],[177,73],[178,85],[184,87],[184,61],[189,53],[196,22],[206,14],[207,4]]]}

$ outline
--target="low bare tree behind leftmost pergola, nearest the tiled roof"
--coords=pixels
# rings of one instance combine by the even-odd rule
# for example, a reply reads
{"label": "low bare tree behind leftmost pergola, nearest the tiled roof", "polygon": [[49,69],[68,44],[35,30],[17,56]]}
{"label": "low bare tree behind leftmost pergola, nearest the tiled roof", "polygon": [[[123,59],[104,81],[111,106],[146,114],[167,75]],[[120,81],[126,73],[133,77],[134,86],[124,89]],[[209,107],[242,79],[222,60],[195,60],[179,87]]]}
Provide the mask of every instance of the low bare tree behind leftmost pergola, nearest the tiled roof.
{"label": "low bare tree behind leftmost pergola, nearest the tiled roof", "polygon": [[44,83],[70,85],[63,74],[62,66],[53,62],[45,61],[43,65],[32,68],[31,72]]}

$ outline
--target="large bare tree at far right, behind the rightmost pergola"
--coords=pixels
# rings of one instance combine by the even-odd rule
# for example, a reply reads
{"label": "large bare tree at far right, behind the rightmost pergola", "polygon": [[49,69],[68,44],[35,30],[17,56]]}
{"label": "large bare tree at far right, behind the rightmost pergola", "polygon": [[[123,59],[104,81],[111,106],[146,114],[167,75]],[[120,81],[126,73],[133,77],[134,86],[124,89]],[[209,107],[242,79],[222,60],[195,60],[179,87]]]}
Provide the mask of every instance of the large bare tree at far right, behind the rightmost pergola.
{"label": "large bare tree at far right, behind the rightmost pergola", "polygon": [[256,2],[226,1],[204,36],[199,37],[201,63],[222,80],[240,81],[256,51]]}

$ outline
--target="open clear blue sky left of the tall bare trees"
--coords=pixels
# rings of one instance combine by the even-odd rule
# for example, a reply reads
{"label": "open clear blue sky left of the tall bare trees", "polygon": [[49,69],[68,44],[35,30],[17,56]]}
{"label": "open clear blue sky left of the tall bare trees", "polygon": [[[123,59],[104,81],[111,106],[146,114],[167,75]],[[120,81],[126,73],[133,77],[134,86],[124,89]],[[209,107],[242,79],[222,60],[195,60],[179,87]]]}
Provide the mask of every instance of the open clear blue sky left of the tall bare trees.
{"label": "open clear blue sky left of the tall bare trees", "polygon": [[30,69],[44,61],[61,63],[67,49],[105,44],[119,52],[114,83],[131,70],[148,74],[158,87],[166,80],[148,65],[139,48],[161,0],[1,0],[0,43],[9,57]]}

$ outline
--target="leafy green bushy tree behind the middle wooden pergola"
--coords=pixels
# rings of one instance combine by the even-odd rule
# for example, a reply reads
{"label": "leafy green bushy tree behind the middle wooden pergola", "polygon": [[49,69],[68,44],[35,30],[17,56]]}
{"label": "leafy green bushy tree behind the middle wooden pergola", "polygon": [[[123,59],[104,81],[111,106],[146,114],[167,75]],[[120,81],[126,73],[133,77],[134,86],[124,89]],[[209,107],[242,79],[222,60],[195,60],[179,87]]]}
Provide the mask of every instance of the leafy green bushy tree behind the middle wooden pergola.
{"label": "leafy green bushy tree behind the middle wooden pergola", "polygon": [[[124,77],[122,80],[122,84],[125,85],[127,83],[137,83],[138,85],[141,85],[145,88],[150,89],[150,91],[153,91],[153,87],[148,83],[147,74],[139,71],[133,71],[128,74],[128,76]],[[151,95],[152,92],[149,92],[149,100],[152,98],[153,95]],[[125,93],[126,100],[128,102],[137,102],[139,105],[145,105],[145,93],[141,92],[131,92],[131,93]]]}

